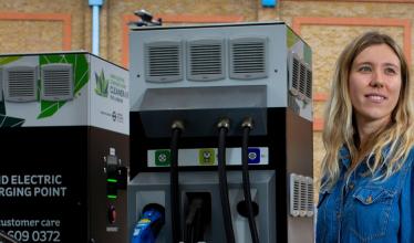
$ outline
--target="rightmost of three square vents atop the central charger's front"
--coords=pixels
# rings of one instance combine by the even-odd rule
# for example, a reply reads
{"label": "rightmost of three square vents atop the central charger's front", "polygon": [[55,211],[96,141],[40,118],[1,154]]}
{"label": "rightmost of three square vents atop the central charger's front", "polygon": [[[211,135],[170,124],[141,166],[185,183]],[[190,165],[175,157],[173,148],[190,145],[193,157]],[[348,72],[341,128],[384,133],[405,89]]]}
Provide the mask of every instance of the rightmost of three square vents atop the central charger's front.
{"label": "rightmost of three square vents atop the central charger's front", "polygon": [[267,39],[244,38],[229,41],[230,77],[256,80],[267,77]]}

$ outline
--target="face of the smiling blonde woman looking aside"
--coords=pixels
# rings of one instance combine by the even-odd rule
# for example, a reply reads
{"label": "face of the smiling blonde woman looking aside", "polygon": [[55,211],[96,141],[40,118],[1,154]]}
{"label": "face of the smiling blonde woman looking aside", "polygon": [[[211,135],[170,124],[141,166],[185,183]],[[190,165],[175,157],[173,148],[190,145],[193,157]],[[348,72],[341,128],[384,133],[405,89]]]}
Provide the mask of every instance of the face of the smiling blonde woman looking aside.
{"label": "face of the smiling blonde woman looking aside", "polygon": [[354,59],[349,77],[356,123],[389,123],[401,86],[401,63],[394,51],[386,44],[364,49]]}

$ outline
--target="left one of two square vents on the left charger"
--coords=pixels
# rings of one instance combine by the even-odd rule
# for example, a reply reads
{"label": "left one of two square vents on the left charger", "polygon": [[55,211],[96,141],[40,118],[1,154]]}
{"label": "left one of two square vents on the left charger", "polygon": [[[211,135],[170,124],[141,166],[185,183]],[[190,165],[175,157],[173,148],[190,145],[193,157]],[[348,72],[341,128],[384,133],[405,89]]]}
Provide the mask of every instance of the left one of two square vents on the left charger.
{"label": "left one of two square vents on the left charger", "polygon": [[37,101],[38,75],[33,66],[10,66],[3,70],[4,99],[8,102]]}

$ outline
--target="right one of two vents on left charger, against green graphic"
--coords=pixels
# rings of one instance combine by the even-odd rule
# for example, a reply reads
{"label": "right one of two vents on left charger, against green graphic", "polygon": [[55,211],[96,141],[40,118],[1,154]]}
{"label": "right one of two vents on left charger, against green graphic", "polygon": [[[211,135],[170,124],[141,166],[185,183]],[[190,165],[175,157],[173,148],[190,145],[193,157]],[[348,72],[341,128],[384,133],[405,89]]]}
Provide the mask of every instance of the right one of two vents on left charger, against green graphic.
{"label": "right one of two vents on left charger, against green graphic", "polygon": [[43,101],[69,101],[73,98],[73,71],[71,64],[41,66]]}

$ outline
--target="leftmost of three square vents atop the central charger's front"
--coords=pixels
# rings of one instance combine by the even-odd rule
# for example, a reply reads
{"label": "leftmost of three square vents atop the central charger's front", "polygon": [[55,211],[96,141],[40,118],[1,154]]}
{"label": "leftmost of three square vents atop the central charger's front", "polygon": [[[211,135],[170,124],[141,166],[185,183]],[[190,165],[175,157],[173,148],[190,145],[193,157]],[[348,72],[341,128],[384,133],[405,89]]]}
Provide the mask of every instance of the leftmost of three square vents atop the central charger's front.
{"label": "leftmost of three square vents atop the central charger's front", "polygon": [[145,44],[145,78],[148,82],[183,80],[183,44],[153,42]]}

